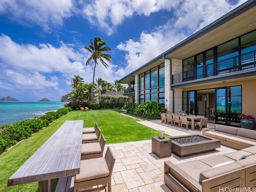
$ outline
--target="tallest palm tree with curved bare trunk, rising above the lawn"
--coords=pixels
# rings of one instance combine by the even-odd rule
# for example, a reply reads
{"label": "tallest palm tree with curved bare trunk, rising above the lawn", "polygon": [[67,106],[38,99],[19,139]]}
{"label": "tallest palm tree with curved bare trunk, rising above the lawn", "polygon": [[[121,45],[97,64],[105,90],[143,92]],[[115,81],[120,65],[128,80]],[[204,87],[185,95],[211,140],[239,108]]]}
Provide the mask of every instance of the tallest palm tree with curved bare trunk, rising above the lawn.
{"label": "tallest palm tree with curved bare trunk, rising above the lawn", "polygon": [[[94,76],[95,76],[95,68],[96,64],[98,64],[98,60],[102,63],[102,65],[106,68],[108,68],[108,64],[106,64],[106,61],[110,62],[112,59],[112,56],[109,54],[104,54],[104,52],[111,51],[111,48],[108,46],[105,46],[106,42],[104,42],[103,39],[100,37],[95,37],[94,42],[92,39],[90,40],[90,45],[84,46],[86,50],[88,50],[91,53],[91,56],[88,58],[86,61],[86,66],[90,65],[90,62],[94,62],[94,70],[93,70],[93,78],[92,78],[92,90],[91,92],[93,93],[93,88],[94,88]],[[91,102],[93,102],[93,94],[91,95]]]}

